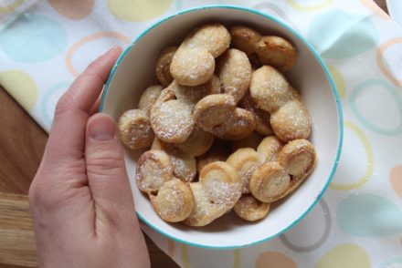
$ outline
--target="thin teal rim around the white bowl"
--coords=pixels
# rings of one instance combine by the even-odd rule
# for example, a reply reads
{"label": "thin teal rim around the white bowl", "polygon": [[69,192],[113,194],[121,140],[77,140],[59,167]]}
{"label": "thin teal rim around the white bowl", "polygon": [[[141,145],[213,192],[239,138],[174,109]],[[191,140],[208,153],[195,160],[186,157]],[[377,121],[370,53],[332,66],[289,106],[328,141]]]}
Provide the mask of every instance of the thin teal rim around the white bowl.
{"label": "thin teal rim around the white bowl", "polygon": [[109,76],[108,81],[106,82],[105,88],[103,89],[101,102],[100,102],[100,112],[103,110],[103,103],[104,103],[106,95],[108,93],[108,88],[109,88],[109,85],[111,83],[111,79],[113,78],[117,67],[119,66],[120,62],[122,61],[122,58],[125,57],[127,52],[131,49],[131,47],[133,45],[135,45],[135,43],[137,43],[141,38],[143,38],[143,36],[145,36],[148,32],[150,32],[154,27],[163,24],[165,21],[167,21],[167,20],[169,20],[169,19],[171,19],[171,18],[173,18],[173,17],[175,17],[177,15],[182,15],[182,14],[190,13],[190,12],[197,11],[197,10],[215,9],[215,8],[236,9],[236,10],[246,11],[246,12],[253,13],[253,14],[256,14],[256,15],[264,16],[265,18],[269,19],[270,21],[273,21],[273,22],[279,24],[280,26],[284,27],[285,29],[290,31],[294,36],[296,36],[300,40],[302,40],[302,42],[312,51],[312,54],[318,60],[318,62],[320,63],[321,67],[323,67],[323,70],[325,71],[326,77],[330,81],[331,87],[333,88],[333,95],[335,96],[336,107],[338,109],[339,129],[340,129],[340,131],[339,131],[338,150],[337,150],[337,153],[336,153],[335,161],[333,162],[333,169],[331,170],[330,176],[328,177],[327,182],[325,183],[325,185],[323,187],[323,191],[320,192],[320,194],[317,196],[317,198],[312,203],[312,205],[307,209],[307,211],[304,211],[304,213],[302,213],[302,215],[297,220],[292,222],[291,225],[289,225],[288,227],[284,228],[280,232],[277,232],[274,235],[271,235],[269,237],[263,238],[263,239],[261,239],[261,240],[259,240],[257,242],[251,242],[251,243],[248,243],[248,244],[239,244],[239,245],[234,245],[234,246],[219,247],[219,246],[210,246],[210,245],[205,245],[205,244],[198,244],[198,243],[195,243],[195,242],[184,241],[184,240],[176,238],[176,237],[174,237],[174,236],[172,236],[170,234],[167,234],[164,231],[156,228],[151,222],[146,221],[139,212],[135,211],[137,216],[138,216],[138,218],[140,218],[141,221],[145,222],[154,231],[163,234],[164,236],[174,240],[175,242],[181,242],[181,243],[187,244],[189,246],[194,246],[194,247],[204,248],[204,249],[234,250],[234,249],[238,249],[238,248],[245,248],[245,247],[257,245],[257,244],[259,244],[261,242],[267,242],[267,241],[269,241],[269,240],[271,240],[271,239],[273,239],[275,237],[280,236],[280,234],[282,234],[283,232],[287,232],[288,230],[290,230],[293,226],[295,226],[297,223],[299,223],[302,220],[302,218],[304,218],[310,211],[312,211],[312,208],[317,204],[318,201],[320,201],[320,199],[323,197],[323,193],[326,191],[326,189],[330,185],[331,181],[333,180],[333,175],[334,175],[335,170],[336,170],[336,168],[338,166],[339,158],[341,156],[342,144],[343,144],[343,140],[344,140],[344,115],[343,115],[343,112],[342,112],[341,99],[339,98],[338,90],[337,90],[337,88],[335,86],[335,83],[333,82],[333,77],[331,76],[331,73],[330,73],[328,67],[324,63],[323,58],[315,50],[315,48],[309,42],[307,42],[307,40],[304,37],[302,37],[299,33],[297,33],[295,30],[293,30],[290,26],[288,26],[285,23],[281,22],[279,19],[277,19],[277,18],[275,18],[275,17],[273,17],[271,15],[263,14],[263,13],[257,11],[257,10],[254,10],[254,9],[251,9],[251,8],[248,8],[248,7],[242,7],[242,6],[237,6],[237,5],[203,5],[203,6],[198,6],[198,7],[185,9],[185,10],[182,10],[180,12],[175,13],[174,15],[168,15],[168,16],[162,18],[161,20],[159,20],[157,23],[153,24],[153,26],[148,27],[145,31],[143,31],[143,33],[140,36],[138,36],[134,40],[134,42],[132,42],[132,44],[130,46],[128,46],[122,52],[122,55],[117,59],[117,61],[114,64],[113,68],[111,69],[111,75]]}

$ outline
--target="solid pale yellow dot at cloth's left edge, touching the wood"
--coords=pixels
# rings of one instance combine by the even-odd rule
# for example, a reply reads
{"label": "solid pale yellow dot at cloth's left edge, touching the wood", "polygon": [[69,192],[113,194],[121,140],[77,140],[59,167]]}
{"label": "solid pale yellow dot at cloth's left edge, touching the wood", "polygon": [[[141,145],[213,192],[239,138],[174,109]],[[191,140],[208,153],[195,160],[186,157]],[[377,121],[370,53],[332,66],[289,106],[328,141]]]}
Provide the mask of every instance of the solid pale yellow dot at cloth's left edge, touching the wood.
{"label": "solid pale yellow dot at cloth's left edge, touching the wood", "polygon": [[0,85],[12,88],[8,92],[16,101],[30,111],[37,102],[37,85],[34,79],[21,70],[6,70],[0,72]]}

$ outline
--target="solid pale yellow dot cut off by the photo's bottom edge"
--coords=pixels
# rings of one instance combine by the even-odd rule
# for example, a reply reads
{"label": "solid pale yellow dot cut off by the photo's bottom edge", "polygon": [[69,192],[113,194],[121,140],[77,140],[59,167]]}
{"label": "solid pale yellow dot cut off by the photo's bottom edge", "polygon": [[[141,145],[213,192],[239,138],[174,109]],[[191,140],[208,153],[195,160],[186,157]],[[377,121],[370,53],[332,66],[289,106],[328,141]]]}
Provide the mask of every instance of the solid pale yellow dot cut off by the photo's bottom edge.
{"label": "solid pale yellow dot cut off by the photo's bottom edge", "polygon": [[323,254],[314,268],[371,268],[365,249],[355,243],[335,246]]}

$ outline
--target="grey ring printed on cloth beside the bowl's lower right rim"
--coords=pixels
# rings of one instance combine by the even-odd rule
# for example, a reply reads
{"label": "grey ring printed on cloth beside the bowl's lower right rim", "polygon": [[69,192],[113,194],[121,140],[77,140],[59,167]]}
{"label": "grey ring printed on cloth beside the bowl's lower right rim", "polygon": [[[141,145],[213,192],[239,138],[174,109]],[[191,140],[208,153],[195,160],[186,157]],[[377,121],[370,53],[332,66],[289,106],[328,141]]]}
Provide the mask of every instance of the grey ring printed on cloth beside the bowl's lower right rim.
{"label": "grey ring printed on cloth beside the bowl's lower right rim", "polygon": [[[326,204],[326,202],[323,199],[320,200],[320,206],[323,210],[324,227],[323,227],[323,235],[317,242],[314,242],[311,245],[296,245],[288,239],[289,232],[286,232],[286,233],[283,233],[280,235],[280,241],[283,242],[283,244],[285,246],[287,246],[289,249],[291,249],[293,252],[307,253],[307,252],[311,252],[315,249],[318,249],[319,247],[321,247],[323,245],[323,243],[327,240],[328,236],[330,235],[330,232],[331,232],[330,209],[328,208],[328,205]],[[306,221],[308,218],[309,218],[309,215],[303,221]],[[315,221],[311,222],[311,223],[318,224]],[[312,224],[310,226],[312,226]],[[290,232],[294,232],[295,229],[298,229],[298,231],[299,231],[298,233],[302,233],[302,232],[306,233],[305,229],[303,229],[303,227],[301,226],[301,223],[299,223],[298,225],[293,227]]]}

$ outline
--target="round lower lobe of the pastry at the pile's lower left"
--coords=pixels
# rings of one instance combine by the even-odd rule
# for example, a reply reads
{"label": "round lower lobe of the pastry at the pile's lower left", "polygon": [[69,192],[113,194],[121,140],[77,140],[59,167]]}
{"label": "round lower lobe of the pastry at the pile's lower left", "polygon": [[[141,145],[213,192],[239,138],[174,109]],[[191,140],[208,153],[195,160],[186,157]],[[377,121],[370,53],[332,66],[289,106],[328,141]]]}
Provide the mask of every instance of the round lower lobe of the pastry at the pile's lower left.
{"label": "round lower lobe of the pastry at the pile's lower left", "polygon": [[155,195],[149,195],[153,209],[166,222],[181,222],[187,218],[194,208],[193,192],[182,180],[172,179]]}

